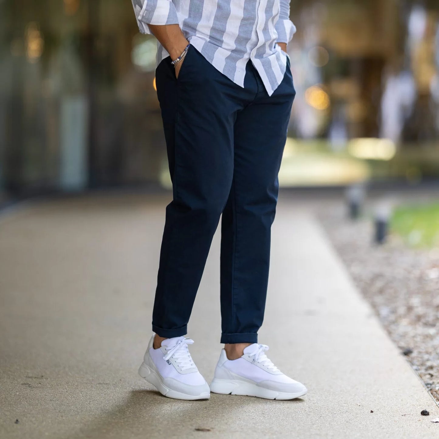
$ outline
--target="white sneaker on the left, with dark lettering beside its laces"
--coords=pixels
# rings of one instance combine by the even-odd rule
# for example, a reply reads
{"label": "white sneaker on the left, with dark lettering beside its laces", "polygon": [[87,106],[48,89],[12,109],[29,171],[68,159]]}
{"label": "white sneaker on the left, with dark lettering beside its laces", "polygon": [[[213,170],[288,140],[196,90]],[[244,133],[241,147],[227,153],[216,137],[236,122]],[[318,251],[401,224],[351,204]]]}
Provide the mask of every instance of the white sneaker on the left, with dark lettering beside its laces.
{"label": "white sneaker on the left, with dark lettering beside its laces", "polygon": [[184,337],[167,338],[160,348],[154,349],[154,336],[139,367],[139,375],[169,398],[210,398],[209,385],[198,372],[187,347],[194,341]]}

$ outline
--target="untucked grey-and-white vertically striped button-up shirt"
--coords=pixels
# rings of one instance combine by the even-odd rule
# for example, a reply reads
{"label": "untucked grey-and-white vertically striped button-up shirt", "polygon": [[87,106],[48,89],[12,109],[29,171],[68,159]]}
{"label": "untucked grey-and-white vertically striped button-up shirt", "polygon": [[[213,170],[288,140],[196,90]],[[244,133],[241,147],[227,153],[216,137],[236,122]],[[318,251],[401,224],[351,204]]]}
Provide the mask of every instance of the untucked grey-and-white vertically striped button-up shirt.
{"label": "untucked grey-and-white vertically striped button-up shirt", "polygon": [[[184,36],[216,69],[244,86],[251,59],[269,95],[281,83],[295,26],[290,0],[132,0],[140,32],[148,25],[178,24]],[[169,54],[158,43],[157,64]]]}

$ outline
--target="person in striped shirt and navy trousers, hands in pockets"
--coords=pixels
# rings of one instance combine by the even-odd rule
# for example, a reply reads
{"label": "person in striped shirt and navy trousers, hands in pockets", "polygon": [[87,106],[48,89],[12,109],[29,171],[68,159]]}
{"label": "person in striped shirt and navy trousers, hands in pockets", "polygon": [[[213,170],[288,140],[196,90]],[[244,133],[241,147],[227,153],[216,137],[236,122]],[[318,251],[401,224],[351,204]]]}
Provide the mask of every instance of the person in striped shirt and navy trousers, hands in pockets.
{"label": "person in striped shirt and navy trousers, hands in pockets", "polygon": [[[158,40],[156,87],[173,201],[166,208],[154,334],[139,373],[163,394],[293,399],[304,385],[258,344],[277,174],[295,90],[290,0],[132,0]],[[221,223],[221,351],[210,389],[187,334],[212,237]]]}

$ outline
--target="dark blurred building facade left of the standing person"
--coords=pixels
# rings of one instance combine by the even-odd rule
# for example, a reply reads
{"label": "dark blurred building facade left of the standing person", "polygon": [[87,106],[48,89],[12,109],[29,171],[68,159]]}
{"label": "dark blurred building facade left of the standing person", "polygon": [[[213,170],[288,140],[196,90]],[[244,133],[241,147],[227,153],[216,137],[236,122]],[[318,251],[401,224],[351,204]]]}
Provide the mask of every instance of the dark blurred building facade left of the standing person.
{"label": "dark blurred building facade left of the standing person", "polygon": [[147,39],[130,2],[4,0],[0,21],[0,187],[23,194],[155,180],[163,141],[155,61],[139,54]]}

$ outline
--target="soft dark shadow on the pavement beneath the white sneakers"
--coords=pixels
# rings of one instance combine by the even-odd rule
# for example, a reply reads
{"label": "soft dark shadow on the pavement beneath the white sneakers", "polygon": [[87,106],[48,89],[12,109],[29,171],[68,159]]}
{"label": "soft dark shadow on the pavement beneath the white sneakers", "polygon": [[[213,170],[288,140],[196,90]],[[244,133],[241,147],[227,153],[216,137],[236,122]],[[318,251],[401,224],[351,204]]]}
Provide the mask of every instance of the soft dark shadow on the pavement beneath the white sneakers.
{"label": "soft dark shadow on the pavement beneath the white sneakers", "polygon": [[[181,401],[162,396],[155,390],[133,390],[125,403],[95,417],[86,425],[62,439],[108,437],[170,437],[173,433],[212,431],[230,435],[230,421],[242,416],[241,411],[254,413],[261,421],[264,407],[270,404],[300,404],[304,399],[273,401],[248,396],[212,394],[210,400]],[[235,418],[236,419],[236,418]],[[250,420],[249,420],[250,421]],[[236,421],[235,421],[236,422]],[[234,422],[233,422],[234,424]],[[170,431],[170,426],[176,431]],[[60,438],[61,439],[61,438]]]}

